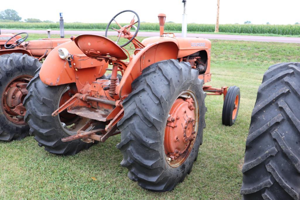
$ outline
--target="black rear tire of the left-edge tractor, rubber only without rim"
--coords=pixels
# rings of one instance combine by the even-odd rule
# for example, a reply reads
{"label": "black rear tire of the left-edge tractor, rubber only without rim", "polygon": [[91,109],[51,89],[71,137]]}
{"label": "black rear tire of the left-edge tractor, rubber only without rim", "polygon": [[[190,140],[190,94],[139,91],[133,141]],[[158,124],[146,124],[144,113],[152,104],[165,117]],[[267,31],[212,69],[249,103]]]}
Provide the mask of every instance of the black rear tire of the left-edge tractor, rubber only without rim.
{"label": "black rear tire of the left-edge tractor, rubber only without rim", "polygon": [[3,93],[6,86],[16,77],[21,75],[34,76],[35,71],[41,66],[38,59],[22,53],[11,53],[0,56],[0,140],[21,140],[29,135],[28,124],[16,124],[4,114]]}

